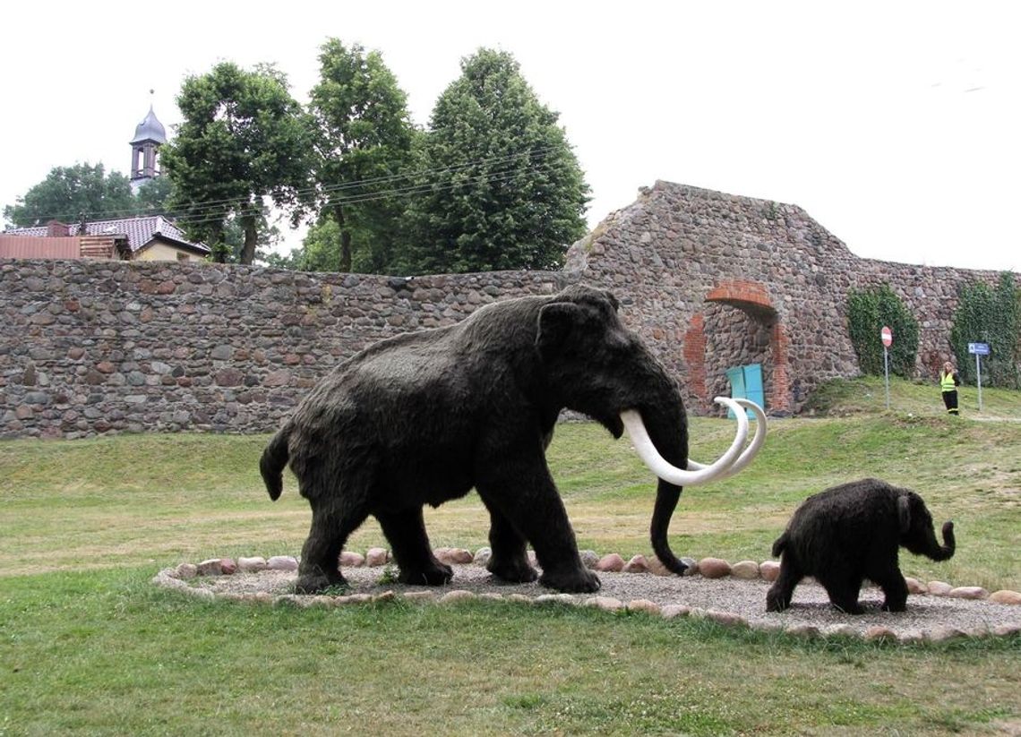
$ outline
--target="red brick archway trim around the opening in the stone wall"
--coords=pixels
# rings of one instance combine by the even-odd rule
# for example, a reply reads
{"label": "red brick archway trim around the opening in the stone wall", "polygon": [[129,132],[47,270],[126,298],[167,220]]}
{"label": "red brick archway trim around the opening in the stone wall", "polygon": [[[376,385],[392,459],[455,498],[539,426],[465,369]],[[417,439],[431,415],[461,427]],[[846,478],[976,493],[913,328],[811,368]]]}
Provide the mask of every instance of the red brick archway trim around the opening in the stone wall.
{"label": "red brick archway trim around the opening in the stone wall", "polygon": [[[772,412],[790,411],[790,378],[787,348],[790,340],[780,322],[776,307],[766,286],[759,282],[731,280],[721,282],[706,295],[706,302],[719,302],[742,310],[753,320],[770,327],[770,352],[773,373],[770,377],[766,405]],[[691,391],[706,405],[708,394],[706,377],[706,317],[699,312],[691,320],[684,334],[684,360],[688,365],[688,383]]]}

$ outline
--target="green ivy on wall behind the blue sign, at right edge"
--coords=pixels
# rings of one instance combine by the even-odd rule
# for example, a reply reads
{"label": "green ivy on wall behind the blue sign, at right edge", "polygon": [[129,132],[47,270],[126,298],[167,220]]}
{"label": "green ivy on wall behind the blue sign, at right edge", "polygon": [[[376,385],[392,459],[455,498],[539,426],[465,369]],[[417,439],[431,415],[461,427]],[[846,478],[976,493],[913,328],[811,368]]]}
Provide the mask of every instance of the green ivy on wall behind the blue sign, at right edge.
{"label": "green ivy on wall behind the blue sign, at right edge", "polygon": [[1021,301],[1012,273],[1001,274],[994,289],[984,282],[963,287],[951,327],[951,348],[957,356],[961,378],[969,384],[977,381],[975,356],[968,352],[968,344],[987,343],[989,354],[981,359],[982,383],[1021,388],[1019,330]]}

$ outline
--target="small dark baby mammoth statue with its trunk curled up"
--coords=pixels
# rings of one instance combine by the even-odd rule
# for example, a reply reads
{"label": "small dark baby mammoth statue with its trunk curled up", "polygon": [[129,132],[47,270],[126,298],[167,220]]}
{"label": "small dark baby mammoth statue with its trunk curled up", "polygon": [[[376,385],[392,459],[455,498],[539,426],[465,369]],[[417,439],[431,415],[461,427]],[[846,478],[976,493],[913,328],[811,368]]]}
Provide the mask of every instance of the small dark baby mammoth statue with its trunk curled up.
{"label": "small dark baby mammoth statue with its trunk curled up", "polygon": [[877,479],[834,486],[806,499],[773,543],[773,555],[782,558],[766,609],[786,609],[798,582],[814,576],[830,602],[849,615],[863,612],[858,594],[865,579],[883,590],[884,611],[904,611],[908,585],[897,548],[946,560],[955,549],[953,522],[943,524],[943,543],[936,541],[932,515],[915,492]]}

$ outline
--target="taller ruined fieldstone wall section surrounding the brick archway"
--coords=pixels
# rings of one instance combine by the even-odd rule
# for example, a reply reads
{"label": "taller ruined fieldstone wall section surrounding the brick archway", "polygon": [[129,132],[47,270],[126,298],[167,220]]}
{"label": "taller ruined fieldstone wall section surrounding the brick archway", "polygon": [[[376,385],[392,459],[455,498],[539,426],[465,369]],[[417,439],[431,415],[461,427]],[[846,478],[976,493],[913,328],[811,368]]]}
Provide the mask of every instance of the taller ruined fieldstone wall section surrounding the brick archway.
{"label": "taller ruined fieldstone wall section surrounding the brick archway", "polygon": [[[666,182],[643,189],[633,205],[576,243],[567,267],[626,293],[634,305],[626,320],[677,376],[697,373],[689,358],[699,351],[686,350],[685,340],[697,338],[690,328],[699,326],[706,390],[698,395],[686,385],[685,399],[703,410],[707,398],[726,390],[723,372],[731,365],[763,362],[769,393],[777,353],[787,364],[789,381],[779,389],[791,410],[819,382],[858,375],[846,328],[847,292],[884,283],[918,318],[917,374],[933,377],[951,356],[960,287],[977,280],[992,285],[998,277],[859,258],[795,205]],[[775,314],[749,316],[707,301],[728,280],[762,287]],[[777,326],[785,342],[780,351],[764,345]]]}

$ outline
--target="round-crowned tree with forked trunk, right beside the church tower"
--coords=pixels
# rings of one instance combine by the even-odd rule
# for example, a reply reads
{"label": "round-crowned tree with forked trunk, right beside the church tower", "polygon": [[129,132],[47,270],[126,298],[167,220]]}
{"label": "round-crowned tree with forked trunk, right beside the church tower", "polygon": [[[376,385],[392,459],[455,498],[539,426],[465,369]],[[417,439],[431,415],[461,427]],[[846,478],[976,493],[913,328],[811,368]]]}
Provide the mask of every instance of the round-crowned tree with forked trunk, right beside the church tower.
{"label": "round-crowned tree with forked trunk, right beside the church tower", "polygon": [[172,206],[189,236],[227,260],[225,229],[235,217],[244,232],[242,263],[251,263],[266,198],[297,208],[310,194],[307,118],[272,65],[246,71],[221,62],[185,80],[177,98],[184,121],[160,149],[174,186]]}

